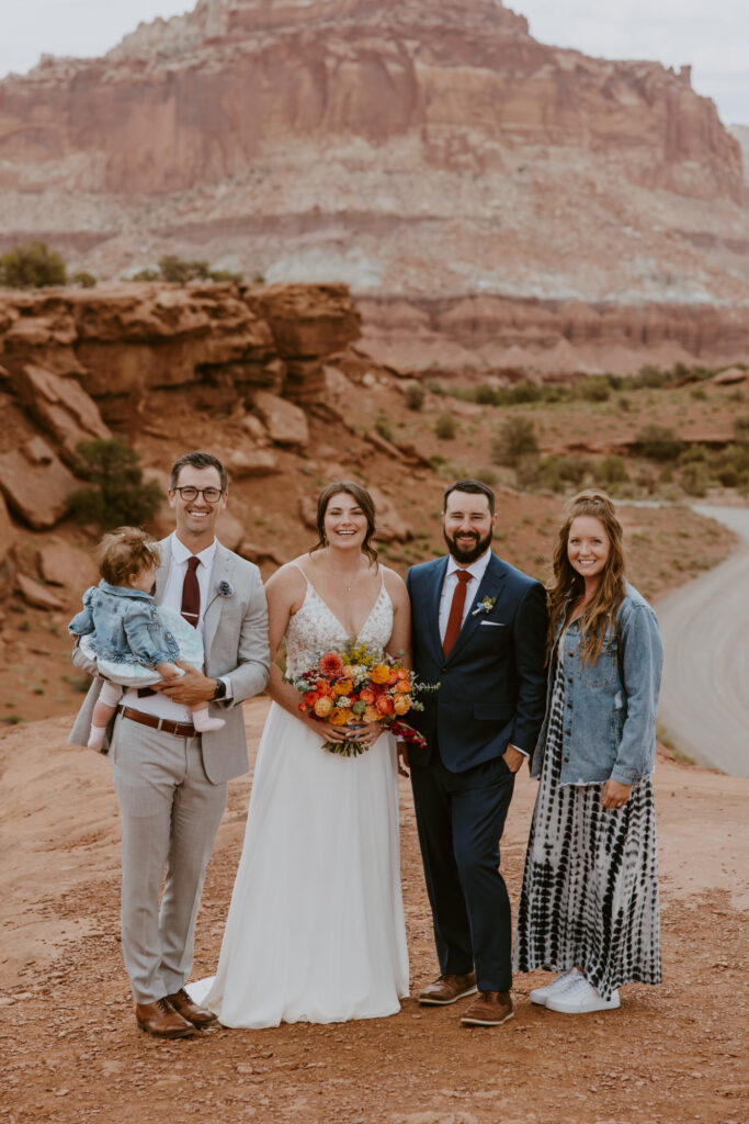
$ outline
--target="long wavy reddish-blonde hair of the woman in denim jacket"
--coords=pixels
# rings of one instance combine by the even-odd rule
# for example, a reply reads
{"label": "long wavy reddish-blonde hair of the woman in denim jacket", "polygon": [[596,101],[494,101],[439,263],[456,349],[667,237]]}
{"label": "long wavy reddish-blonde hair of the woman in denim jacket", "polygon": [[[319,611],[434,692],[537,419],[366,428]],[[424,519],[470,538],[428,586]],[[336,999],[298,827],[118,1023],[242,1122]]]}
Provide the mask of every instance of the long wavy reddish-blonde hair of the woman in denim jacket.
{"label": "long wavy reddish-blonde hair of the woman in denim jacket", "polygon": [[549,633],[547,651],[550,655],[558,627],[564,623],[570,602],[577,600],[585,590],[582,574],[573,570],[567,558],[567,541],[573,520],[579,515],[590,515],[603,524],[609,536],[609,558],[601,574],[601,583],[593,595],[579,620],[583,663],[595,663],[601,654],[605,636],[619,633],[616,613],[624,599],[624,551],[622,527],[610,497],[600,488],[586,488],[574,496],[567,505],[567,516],[559,528],[559,537],[554,549],[554,578],[547,586],[549,597]]}

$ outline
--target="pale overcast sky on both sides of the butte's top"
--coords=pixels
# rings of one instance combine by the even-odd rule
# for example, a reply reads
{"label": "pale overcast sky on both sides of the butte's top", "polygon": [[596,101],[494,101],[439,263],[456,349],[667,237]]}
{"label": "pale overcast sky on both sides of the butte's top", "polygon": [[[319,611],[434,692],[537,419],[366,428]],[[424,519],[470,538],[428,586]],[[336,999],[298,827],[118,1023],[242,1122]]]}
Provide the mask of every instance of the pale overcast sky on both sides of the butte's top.
{"label": "pale overcast sky on both sides of the butte's top", "polygon": [[[19,0],[3,20],[0,76],[40,54],[99,55],[140,20],[176,16],[195,0]],[[749,0],[509,0],[542,43],[606,58],[689,63],[695,90],[725,125],[749,125]]]}

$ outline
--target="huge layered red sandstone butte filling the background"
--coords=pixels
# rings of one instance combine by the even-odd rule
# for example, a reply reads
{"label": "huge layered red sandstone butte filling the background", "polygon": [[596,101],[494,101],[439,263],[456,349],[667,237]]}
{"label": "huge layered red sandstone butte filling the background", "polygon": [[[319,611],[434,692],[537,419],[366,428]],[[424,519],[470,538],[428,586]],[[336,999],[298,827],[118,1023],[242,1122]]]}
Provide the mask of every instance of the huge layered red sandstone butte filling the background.
{"label": "huge layered red sandstone butte filling the background", "polygon": [[417,371],[728,364],[737,137],[688,66],[544,45],[499,0],[200,0],[0,82],[0,248],[341,281]]}

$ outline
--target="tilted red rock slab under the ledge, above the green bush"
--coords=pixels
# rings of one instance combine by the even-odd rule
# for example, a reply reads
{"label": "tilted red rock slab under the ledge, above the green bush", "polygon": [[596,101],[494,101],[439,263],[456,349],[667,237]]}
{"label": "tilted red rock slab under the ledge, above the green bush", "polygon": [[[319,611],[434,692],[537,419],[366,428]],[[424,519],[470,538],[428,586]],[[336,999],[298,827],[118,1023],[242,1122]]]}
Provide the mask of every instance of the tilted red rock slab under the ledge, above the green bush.
{"label": "tilted red rock slab under the ledge, above the green bush", "polygon": [[11,382],[29,413],[62,446],[68,463],[76,462],[79,442],[111,437],[99,407],[75,379],[63,379],[29,363],[11,373]]}

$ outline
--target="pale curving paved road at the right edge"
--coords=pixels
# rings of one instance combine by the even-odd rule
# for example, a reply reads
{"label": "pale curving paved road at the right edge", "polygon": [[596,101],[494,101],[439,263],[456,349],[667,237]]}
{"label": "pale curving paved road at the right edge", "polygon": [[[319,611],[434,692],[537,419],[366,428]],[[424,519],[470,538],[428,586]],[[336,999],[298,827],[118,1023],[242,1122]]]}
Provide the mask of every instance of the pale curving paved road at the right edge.
{"label": "pale curving paved road at the right edge", "polygon": [[740,536],[725,562],[658,602],[658,717],[700,764],[749,777],[749,508],[694,505]]}

